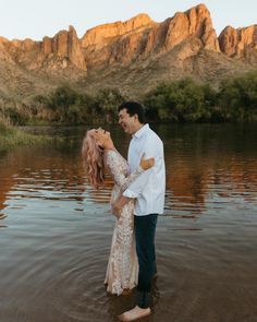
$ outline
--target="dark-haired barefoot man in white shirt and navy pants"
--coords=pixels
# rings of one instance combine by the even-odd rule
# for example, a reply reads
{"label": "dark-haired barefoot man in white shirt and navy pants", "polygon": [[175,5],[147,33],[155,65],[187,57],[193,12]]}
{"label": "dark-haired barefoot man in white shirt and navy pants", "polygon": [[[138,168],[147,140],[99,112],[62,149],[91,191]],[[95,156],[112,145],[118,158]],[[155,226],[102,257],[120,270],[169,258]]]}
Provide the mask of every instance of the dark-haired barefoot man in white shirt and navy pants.
{"label": "dark-haired barefoot man in white shirt and navy pants", "polygon": [[119,318],[134,321],[150,314],[150,289],[152,277],[157,274],[155,254],[155,232],[158,214],[163,213],[166,168],[163,144],[160,138],[144,123],[144,108],[136,102],[126,102],[119,107],[119,123],[132,135],[128,147],[128,165],[134,171],[145,154],[154,157],[155,166],[142,174],[113,204],[113,213],[119,213],[124,204],[135,199],[135,238],[139,263],[136,306]]}

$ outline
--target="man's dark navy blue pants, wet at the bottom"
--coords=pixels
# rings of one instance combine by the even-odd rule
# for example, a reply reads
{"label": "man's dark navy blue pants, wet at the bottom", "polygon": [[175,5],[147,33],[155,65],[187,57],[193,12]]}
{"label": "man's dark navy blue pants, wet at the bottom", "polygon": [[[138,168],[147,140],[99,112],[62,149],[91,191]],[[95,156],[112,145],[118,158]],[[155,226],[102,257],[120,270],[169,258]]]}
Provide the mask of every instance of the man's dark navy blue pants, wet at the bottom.
{"label": "man's dark navy blue pants, wet at the bottom", "polygon": [[155,236],[158,214],[135,216],[136,253],[139,263],[136,305],[146,309],[150,307],[152,276],[157,273]]}

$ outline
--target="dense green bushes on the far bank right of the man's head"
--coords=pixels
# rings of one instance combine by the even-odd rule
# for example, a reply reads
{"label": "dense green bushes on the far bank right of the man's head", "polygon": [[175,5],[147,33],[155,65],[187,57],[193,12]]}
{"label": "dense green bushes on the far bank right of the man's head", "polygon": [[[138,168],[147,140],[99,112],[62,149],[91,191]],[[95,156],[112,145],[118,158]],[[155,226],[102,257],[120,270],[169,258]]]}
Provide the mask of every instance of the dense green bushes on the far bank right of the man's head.
{"label": "dense green bushes on the far bank right of the man's head", "polygon": [[191,79],[162,83],[145,98],[151,120],[171,122],[256,122],[257,72],[225,80],[218,90]]}

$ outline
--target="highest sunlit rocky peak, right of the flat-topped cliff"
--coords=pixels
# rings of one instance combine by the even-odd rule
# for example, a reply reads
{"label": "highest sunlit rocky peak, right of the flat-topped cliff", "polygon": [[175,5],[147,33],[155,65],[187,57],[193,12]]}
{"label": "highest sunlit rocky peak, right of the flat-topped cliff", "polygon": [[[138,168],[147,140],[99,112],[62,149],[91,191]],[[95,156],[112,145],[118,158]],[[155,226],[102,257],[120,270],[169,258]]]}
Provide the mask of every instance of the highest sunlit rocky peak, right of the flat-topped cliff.
{"label": "highest sunlit rocky peak, right of the flat-topped cliff", "polygon": [[204,48],[220,51],[210,13],[204,4],[186,12],[178,12],[172,19],[156,25],[148,34],[145,52],[167,52],[180,46],[176,58],[186,59]]}

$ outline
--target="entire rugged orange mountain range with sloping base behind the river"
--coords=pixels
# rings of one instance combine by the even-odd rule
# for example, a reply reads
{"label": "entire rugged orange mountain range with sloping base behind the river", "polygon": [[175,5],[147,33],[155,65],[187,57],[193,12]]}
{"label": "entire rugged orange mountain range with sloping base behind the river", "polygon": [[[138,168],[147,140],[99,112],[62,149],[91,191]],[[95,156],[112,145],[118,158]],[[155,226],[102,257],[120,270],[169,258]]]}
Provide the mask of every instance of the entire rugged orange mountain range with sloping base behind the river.
{"label": "entire rugged orange mountain range with sloping base behind the river", "polygon": [[257,68],[257,25],[219,36],[205,4],[161,23],[147,14],[88,29],[73,26],[41,41],[0,37],[0,96],[46,93],[64,80],[95,92],[114,86],[138,97],[160,81],[191,76],[217,85]]}

